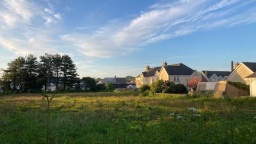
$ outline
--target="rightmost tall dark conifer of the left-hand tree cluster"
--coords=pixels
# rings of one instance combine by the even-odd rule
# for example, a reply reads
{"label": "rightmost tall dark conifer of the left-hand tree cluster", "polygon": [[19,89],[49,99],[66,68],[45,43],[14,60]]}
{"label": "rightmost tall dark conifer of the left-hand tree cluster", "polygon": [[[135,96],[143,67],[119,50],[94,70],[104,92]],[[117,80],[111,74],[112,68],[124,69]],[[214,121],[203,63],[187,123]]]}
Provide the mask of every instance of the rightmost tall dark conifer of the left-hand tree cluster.
{"label": "rightmost tall dark conifer of the left-hand tree cluster", "polygon": [[74,64],[73,60],[69,57],[69,55],[62,55],[61,59],[62,61],[60,69],[63,75],[63,89],[66,90],[67,87],[71,89],[71,87],[76,81],[76,77],[78,76],[76,72],[76,65]]}

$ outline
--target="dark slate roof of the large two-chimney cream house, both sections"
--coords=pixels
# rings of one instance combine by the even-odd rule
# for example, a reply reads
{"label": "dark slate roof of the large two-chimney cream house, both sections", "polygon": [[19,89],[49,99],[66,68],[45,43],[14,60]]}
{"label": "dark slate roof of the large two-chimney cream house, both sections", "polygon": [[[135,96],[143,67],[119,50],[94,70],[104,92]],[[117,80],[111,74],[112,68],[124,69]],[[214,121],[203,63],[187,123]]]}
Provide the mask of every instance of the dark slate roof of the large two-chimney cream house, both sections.
{"label": "dark slate roof of the large two-chimney cream house, both sections", "polygon": [[[192,75],[195,72],[195,70],[187,67],[183,63],[168,65],[164,68],[166,69],[168,75]],[[142,75],[144,77],[152,77],[155,76],[157,71],[160,72],[161,69],[162,67],[150,68],[147,72],[142,72]]]}

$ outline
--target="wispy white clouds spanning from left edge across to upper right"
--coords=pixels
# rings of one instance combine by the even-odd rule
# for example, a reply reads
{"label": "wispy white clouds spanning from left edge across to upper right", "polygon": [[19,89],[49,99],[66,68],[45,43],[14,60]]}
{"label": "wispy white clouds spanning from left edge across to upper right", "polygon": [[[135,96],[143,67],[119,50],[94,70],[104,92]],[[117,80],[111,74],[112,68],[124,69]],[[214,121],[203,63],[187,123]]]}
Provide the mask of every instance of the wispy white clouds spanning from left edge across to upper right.
{"label": "wispy white clouds spanning from left edge across to upper right", "polygon": [[[198,30],[256,21],[254,0],[160,1],[133,19],[124,17],[109,20],[102,27],[74,27],[68,32],[59,23],[65,15],[46,2],[47,5],[26,0],[1,1],[0,45],[16,54],[71,51],[110,58]],[[62,10],[69,11],[70,7]],[[92,32],[86,33],[87,29]]]}

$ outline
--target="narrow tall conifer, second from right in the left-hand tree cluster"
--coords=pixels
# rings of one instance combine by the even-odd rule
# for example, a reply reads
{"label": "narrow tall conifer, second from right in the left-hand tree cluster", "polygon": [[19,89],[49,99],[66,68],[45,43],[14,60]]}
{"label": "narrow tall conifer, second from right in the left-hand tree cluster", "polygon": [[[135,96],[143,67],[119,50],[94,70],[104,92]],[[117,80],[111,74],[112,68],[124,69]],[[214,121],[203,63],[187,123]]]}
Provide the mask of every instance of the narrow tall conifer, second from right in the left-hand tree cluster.
{"label": "narrow tall conifer, second from right in the left-hand tree cluster", "polygon": [[60,54],[55,54],[52,57],[53,61],[53,77],[54,77],[54,85],[56,86],[56,90],[59,90],[59,83],[60,83],[60,75],[61,75],[61,63],[62,58]]}

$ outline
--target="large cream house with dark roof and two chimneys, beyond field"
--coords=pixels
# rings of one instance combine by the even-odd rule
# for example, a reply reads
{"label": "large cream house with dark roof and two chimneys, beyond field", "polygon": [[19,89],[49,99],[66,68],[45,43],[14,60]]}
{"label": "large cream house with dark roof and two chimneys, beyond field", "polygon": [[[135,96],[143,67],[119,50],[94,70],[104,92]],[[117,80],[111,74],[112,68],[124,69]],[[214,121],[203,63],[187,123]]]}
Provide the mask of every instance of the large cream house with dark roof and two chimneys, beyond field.
{"label": "large cream house with dark roof and two chimneys, beyond field", "polygon": [[187,86],[188,81],[194,77],[201,78],[202,76],[183,63],[167,65],[167,62],[164,62],[161,67],[150,68],[146,66],[146,70],[135,78],[135,83],[137,87],[140,87],[143,84],[150,85],[158,79],[163,79],[164,81]]}

